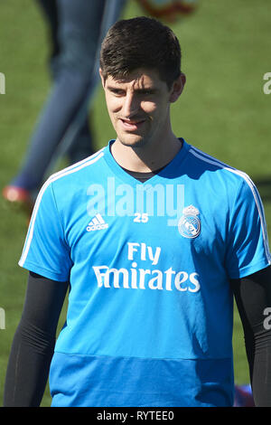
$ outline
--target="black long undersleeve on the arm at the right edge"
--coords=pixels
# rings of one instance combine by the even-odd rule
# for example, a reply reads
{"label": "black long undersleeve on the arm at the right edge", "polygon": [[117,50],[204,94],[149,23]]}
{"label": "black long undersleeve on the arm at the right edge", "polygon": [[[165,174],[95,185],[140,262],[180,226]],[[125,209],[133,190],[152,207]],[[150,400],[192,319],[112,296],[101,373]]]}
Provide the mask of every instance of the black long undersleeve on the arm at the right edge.
{"label": "black long undersleeve on the arm at the right edge", "polygon": [[257,407],[271,407],[271,267],[231,281],[245,336],[250,382]]}

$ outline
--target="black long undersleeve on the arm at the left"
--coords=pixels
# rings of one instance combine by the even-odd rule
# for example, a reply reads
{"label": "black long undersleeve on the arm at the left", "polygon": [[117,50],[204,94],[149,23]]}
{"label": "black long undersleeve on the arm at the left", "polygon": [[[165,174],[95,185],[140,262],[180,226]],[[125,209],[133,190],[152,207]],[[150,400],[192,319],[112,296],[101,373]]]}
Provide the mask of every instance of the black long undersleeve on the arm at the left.
{"label": "black long undersleeve on the arm at the left", "polygon": [[68,286],[68,282],[29,274],[23,314],[6,370],[4,407],[40,406]]}

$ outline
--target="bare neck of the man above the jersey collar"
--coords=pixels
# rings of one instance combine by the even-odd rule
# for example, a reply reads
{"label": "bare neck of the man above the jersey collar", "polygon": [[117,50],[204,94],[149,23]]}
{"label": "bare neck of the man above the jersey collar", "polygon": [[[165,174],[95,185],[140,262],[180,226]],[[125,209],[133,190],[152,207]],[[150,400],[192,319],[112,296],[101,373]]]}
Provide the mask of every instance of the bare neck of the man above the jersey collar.
{"label": "bare neck of the man above the jersey collar", "polygon": [[182,142],[173,135],[161,143],[159,149],[125,146],[117,139],[111,146],[111,153],[117,164],[126,170],[147,173],[169,164],[181,148]]}

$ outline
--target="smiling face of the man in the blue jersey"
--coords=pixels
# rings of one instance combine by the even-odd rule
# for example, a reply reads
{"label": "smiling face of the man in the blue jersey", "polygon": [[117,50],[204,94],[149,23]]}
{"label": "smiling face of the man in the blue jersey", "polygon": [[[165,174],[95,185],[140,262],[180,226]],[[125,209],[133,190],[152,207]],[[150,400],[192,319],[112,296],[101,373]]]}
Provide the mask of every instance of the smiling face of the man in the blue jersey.
{"label": "smiling face of the man in the blue jersey", "polygon": [[136,70],[124,80],[108,76],[103,87],[109,117],[123,145],[145,146],[166,137],[172,90],[156,71]]}

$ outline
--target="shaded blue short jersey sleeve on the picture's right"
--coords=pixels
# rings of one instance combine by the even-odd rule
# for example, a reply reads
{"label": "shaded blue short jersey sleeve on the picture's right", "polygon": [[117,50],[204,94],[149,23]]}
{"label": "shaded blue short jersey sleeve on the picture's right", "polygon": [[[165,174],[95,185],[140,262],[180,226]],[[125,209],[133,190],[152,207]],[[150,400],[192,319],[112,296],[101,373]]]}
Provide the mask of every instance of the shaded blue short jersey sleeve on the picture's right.
{"label": "shaded blue short jersey sleeve on the picture's right", "polygon": [[240,185],[229,219],[227,270],[230,279],[244,278],[270,264],[266,220],[255,184]]}

